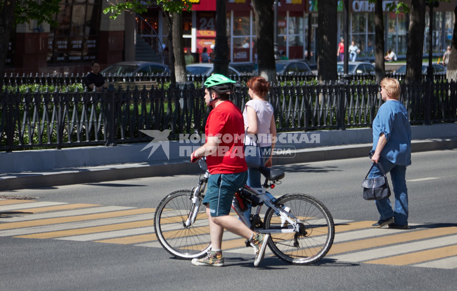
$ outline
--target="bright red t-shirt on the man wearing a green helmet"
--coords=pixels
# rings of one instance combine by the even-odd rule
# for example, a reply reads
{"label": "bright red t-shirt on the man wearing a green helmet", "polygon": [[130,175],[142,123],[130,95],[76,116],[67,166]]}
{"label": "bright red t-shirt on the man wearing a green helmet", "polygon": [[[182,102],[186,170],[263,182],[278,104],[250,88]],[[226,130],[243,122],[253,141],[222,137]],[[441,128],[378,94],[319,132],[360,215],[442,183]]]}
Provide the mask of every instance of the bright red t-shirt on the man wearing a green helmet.
{"label": "bright red t-shirt on the man wearing a green helmet", "polygon": [[210,174],[233,174],[248,170],[244,160],[244,121],[241,110],[231,101],[224,101],[211,110],[205,126],[208,136],[222,137],[218,151],[207,156]]}

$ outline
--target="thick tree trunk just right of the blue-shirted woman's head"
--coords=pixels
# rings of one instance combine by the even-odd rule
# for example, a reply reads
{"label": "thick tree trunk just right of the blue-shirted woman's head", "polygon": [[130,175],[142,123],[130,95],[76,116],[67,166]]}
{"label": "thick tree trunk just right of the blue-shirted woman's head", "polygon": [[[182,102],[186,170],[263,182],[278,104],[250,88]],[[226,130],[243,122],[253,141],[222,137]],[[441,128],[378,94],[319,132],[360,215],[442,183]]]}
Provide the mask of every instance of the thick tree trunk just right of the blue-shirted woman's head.
{"label": "thick tree trunk just right of the blue-shirted woman's head", "polygon": [[422,55],[425,32],[425,0],[412,0],[409,14],[408,51],[406,51],[406,83],[422,81]]}

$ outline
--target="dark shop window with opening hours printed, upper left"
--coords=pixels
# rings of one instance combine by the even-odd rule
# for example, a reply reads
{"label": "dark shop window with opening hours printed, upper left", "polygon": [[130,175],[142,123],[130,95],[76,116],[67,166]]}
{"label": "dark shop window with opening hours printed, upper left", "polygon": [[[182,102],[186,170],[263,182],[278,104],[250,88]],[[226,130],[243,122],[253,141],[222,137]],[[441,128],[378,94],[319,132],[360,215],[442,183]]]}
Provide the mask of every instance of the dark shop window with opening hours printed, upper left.
{"label": "dark shop window with opening hours printed, upper left", "polygon": [[59,23],[48,34],[48,64],[91,62],[97,58],[101,6],[99,0],[62,0]]}

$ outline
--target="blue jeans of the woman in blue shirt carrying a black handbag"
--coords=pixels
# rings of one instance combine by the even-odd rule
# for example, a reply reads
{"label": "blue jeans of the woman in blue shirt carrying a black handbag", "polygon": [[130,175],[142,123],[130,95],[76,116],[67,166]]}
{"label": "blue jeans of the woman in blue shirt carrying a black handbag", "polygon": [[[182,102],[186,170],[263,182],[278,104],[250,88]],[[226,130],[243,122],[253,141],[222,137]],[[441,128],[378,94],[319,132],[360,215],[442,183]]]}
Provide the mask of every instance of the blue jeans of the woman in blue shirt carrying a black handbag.
{"label": "blue jeans of the woman in blue shirt carrying a black handbag", "polygon": [[[380,220],[393,217],[397,225],[408,225],[408,189],[406,188],[406,166],[395,165],[393,162],[380,157],[379,163],[383,166],[386,174],[390,172],[393,193],[395,194],[395,209],[392,210],[392,204],[389,198],[375,200]],[[383,173],[377,165],[373,166],[368,174],[368,178],[383,176]]]}

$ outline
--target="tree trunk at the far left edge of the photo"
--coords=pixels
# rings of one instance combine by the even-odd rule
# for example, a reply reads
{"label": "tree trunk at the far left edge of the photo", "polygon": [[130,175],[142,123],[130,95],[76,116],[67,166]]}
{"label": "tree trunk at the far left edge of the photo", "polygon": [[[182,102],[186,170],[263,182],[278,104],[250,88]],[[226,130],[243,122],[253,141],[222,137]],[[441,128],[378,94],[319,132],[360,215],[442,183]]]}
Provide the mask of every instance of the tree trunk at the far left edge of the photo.
{"label": "tree trunk at the far left edge of the photo", "polygon": [[11,31],[13,30],[14,11],[16,0],[3,2],[0,11],[0,89],[3,91],[3,76],[5,76],[5,59],[10,42]]}

